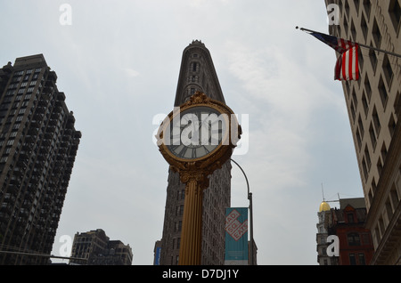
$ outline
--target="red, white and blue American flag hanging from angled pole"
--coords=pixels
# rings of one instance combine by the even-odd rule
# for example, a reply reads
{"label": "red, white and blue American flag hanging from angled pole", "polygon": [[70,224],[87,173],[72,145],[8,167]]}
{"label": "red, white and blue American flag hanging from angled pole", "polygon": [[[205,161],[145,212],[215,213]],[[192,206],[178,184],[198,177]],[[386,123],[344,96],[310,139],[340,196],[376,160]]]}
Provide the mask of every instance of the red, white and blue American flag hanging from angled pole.
{"label": "red, white and blue American flag hanging from angled pole", "polygon": [[359,79],[358,44],[319,32],[311,32],[310,35],[315,36],[323,43],[331,46],[336,52],[340,53],[334,69],[334,79],[347,81],[357,81]]}

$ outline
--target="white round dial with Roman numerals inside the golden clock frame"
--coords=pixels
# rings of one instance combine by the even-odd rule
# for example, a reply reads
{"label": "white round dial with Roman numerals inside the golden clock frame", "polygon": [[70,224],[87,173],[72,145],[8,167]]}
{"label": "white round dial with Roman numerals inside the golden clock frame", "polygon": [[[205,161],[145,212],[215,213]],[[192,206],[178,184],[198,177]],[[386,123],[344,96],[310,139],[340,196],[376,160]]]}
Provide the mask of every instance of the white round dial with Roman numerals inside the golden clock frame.
{"label": "white round dial with Roman numerals inside the golden clock frame", "polygon": [[167,132],[167,148],[177,158],[203,158],[225,141],[228,119],[217,109],[192,107],[174,116]]}

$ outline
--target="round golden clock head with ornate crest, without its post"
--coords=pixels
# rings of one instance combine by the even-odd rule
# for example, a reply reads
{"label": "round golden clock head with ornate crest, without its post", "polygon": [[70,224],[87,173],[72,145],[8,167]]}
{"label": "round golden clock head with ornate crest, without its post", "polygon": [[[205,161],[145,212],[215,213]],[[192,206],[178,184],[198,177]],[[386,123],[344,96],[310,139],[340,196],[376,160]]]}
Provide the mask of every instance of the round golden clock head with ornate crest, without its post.
{"label": "round golden clock head with ornate crest, without its post", "polygon": [[157,134],[160,152],[176,171],[214,171],[230,158],[239,141],[241,126],[224,103],[195,93],[173,110]]}

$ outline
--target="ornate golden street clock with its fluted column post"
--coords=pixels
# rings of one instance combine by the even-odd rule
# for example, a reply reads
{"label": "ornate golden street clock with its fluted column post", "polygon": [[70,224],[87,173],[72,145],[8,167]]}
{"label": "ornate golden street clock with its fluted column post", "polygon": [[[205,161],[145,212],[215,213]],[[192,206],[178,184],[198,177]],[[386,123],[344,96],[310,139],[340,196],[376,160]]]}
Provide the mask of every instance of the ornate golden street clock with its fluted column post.
{"label": "ornate golden street clock with its fluted column post", "polygon": [[[177,129],[179,142],[173,141]],[[209,187],[209,174],[231,157],[240,136],[233,111],[200,92],[160,125],[159,150],[185,184],[179,265],[201,264],[203,190]]]}

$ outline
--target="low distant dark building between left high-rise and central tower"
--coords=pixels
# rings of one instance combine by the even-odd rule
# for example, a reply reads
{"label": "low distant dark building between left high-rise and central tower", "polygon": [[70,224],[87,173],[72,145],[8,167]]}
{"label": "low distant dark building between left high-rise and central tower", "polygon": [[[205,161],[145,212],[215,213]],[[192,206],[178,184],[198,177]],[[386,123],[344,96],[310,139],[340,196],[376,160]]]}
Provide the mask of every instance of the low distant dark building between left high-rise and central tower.
{"label": "low distant dark building between left high-rise and central tower", "polygon": [[131,265],[132,249],[120,240],[110,240],[102,229],[77,233],[72,243],[70,264]]}

